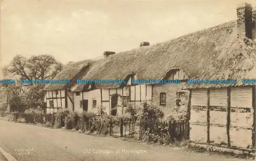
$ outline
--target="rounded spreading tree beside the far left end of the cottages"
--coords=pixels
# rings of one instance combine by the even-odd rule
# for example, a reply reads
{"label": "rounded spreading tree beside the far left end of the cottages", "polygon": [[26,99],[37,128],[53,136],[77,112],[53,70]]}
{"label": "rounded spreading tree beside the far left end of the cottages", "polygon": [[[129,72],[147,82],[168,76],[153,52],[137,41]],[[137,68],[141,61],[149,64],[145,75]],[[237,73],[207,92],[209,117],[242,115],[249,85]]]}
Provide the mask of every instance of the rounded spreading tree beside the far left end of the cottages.
{"label": "rounded spreading tree beside the far left end of the cottages", "polygon": [[[4,75],[15,75],[18,79],[53,79],[61,69],[62,64],[49,55],[30,58],[17,55],[5,67]],[[45,95],[42,91],[44,87],[44,84],[22,85],[17,80],[15,85],[8,85],[8,103],[16,105],[17,109],[21,97],[25,97],[28,104],[42,103]]]}

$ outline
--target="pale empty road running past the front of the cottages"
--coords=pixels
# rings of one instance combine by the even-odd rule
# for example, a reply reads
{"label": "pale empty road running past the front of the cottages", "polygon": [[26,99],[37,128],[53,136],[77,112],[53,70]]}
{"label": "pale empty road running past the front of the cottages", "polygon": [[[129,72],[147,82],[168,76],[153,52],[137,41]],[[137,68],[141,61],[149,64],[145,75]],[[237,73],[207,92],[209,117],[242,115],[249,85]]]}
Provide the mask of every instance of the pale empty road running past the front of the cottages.
{"label": "pale empty road running past the front of the cottages", "polygon": [[3,120],[0,120],[0,147],[17,160],[243,160]]}

